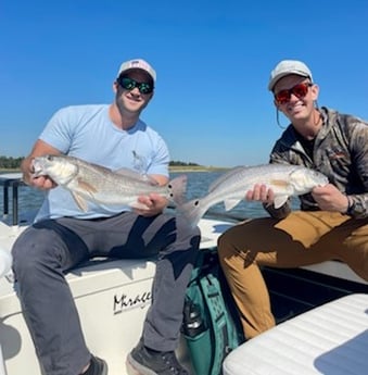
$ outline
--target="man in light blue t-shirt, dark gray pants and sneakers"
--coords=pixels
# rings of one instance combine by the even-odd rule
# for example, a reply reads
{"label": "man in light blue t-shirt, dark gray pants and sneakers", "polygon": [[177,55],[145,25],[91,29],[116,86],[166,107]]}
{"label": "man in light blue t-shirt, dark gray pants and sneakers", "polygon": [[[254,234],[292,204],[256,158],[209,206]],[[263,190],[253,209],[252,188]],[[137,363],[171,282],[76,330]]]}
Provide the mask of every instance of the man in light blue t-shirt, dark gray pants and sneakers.
{"label": "man in light blue t-shirt, dark gray pants and sneakers", "polygon": [[199,249],[199,229],[190,228],[179,216],[164,213],[167,199],[160,195],[139,197],[144,209],[89,203],[84,212],[72,195],[49,176],[33,175],[35,157],[67,154],[111,170],[127,167],[166,185],[166,143],[139,118],[153,97],[155,80],[156,73],[145,61],[123,63],[113,85],[113,103],[61,109],[22,164],[24,180],[48,190],[34,225],[13,247],[13,268],[24,315],[48,375],[107,374],[105,361],[86,347],[64,273],[94,255],[156,254],[152,305],[140,342],[128,355],[128,371],[188,374],[174,351],[186,287]]}

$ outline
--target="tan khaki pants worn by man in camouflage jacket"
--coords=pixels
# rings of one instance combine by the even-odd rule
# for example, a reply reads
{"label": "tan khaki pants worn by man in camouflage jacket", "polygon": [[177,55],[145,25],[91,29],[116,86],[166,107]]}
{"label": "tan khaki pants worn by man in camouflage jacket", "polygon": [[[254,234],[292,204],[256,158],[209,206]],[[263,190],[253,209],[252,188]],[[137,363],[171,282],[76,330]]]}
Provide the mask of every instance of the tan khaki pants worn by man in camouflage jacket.
{"label": "tan khaki pants worn by man in camouflage jacket", "polygon": [[275,325],[259,266],[296,267],[341,260],[368,280],[368,218],[295,211],[281,221],[251,220],[220,236],[218,253],[244,335],[252,338]]}

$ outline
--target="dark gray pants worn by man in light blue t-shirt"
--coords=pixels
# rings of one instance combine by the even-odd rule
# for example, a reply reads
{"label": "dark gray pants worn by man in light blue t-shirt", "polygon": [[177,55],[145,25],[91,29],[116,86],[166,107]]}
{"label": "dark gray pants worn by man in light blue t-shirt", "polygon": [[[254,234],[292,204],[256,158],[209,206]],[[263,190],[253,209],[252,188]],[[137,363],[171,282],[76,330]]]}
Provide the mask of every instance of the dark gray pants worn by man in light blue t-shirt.
{"label": "dark gray pants worn by man in light blue t-shirt", "polygon": [[13,270],[45,373],[77,375],[90,360],[64,275],[96,255],[158,255],[142,337],[150,348],[176,349],[186,287],[199,243],[199,228],[192,229],[179,216],[168,214],[143,217],[125,212],[101,220],[62,217],[27,228],[14,243]]}

